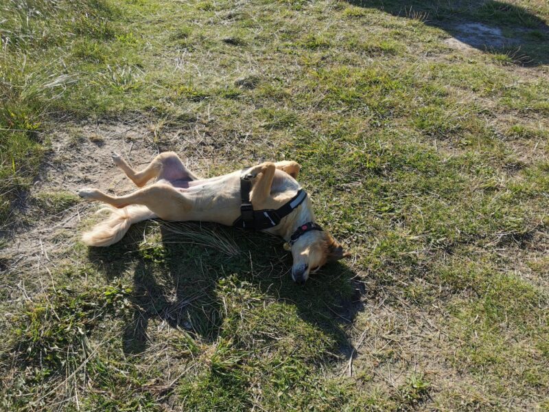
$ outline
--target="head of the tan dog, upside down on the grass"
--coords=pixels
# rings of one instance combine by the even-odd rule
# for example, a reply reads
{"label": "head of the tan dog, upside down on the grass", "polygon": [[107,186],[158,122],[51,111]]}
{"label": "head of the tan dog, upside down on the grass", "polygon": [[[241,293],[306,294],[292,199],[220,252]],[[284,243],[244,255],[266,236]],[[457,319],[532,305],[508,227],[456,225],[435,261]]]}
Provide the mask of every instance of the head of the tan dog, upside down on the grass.
{"label": "head of the tan dog, upside down on the grass", "polygon": [[325,231],[308,231],[299,237],[292,246],[292,279],[304,284],[309,274],[315,273],[327,262],[334,262],[350,256],[329,233]]}

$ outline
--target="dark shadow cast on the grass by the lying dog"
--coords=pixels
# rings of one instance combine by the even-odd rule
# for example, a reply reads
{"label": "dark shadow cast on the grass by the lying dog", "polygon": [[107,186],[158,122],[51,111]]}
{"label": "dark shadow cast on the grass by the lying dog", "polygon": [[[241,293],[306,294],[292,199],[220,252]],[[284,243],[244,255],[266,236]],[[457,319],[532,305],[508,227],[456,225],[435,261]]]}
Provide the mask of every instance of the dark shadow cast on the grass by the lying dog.
{"label": "dark shadow cast on the grass by the lying dog", "polygon": [[332,262],[299,286],[290,277],[292,256],[281,244],[266,233],[219,225],[143,222],[112,247],[90,248],[89,260],[109,280],[132,272],[134,309],[122,338],[126,354],[146,350],[151,319],[216,341],[225,316],[220,284],[235,278],[295,306],[301,319],[331,336],[349,358],[354,350],[346,329],[362,310],[364,284],[348,266]]}

